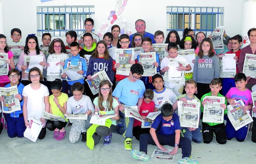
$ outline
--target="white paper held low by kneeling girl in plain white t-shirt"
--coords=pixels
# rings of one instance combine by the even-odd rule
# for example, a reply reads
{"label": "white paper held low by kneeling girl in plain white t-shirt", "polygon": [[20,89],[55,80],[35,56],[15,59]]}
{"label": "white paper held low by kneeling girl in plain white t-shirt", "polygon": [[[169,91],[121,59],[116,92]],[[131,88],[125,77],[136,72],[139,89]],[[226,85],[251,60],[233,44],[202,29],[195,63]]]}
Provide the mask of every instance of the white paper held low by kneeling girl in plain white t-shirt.
{"label": "white paper held low by kneeling girl in plain white t-shirt", "polygon": [[33,117],[29,121],[29,125],[24,132],[24,137],[28,138],[29,140],[36,142],[39,133],[41,132],[43,127],[42,122],[39,119]]}

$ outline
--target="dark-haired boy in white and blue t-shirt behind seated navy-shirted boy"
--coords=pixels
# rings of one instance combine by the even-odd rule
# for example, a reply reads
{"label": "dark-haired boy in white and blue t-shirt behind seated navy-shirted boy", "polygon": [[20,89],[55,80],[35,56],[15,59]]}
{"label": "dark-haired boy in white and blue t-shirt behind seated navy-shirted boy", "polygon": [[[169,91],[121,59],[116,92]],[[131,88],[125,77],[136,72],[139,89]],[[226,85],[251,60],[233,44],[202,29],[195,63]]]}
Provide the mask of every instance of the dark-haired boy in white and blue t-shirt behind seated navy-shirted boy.
{"label": "dark-haired boy in white and blue t-shirt behind seated navy-shirted boy", "polygon": [[164,79],[160,74],[155,74],[152,76],[152,82],[156,89],[154,89],[154,98],[153,101],[155,103],[155,112],[158,111],[159,106],[164,100],[165,97],[168,97],[172,103],[175,103],[177,96],[175,93],[169,88],[164,87]]}

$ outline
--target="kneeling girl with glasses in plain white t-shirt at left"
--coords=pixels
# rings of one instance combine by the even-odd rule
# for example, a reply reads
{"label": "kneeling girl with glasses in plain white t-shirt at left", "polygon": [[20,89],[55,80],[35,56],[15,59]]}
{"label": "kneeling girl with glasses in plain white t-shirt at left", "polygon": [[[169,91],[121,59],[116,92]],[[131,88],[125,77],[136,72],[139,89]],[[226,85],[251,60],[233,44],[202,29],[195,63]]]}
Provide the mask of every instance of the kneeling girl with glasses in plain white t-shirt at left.
{"label": "kneeling girl with glasses in plain white t-shirt at left", "polygon": [[29,125],[29,120],[33,117],[40,119],[44,126],[39,133],[39,140],[44,139],[46,135],[45,119],[43,119],[43,111],[49,113],[49,91],[48,88],[41,84],[39,80],[43,79],[42,72],[39,68],[33,67],[29,70],[28,80],[32,82],[24,87],[23,96],[23,116],[26,127]]}

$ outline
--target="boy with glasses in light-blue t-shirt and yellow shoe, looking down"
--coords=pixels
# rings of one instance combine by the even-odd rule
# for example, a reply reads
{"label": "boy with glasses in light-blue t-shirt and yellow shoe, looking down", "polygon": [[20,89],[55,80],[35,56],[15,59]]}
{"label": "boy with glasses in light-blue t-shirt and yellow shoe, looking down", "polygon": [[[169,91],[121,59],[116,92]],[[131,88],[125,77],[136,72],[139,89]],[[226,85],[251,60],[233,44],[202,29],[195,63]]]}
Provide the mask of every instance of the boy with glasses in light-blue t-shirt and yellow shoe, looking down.
{"label": "boy with glasses in light-blue t-shirt and yellow shoe, looking down", "polygon": [[143,93],[146,90],[143,82],[139,80],[143,73],[144,70],[141,64],[133,64],[130,75],[118,83],[112,94],[119,104],[119,116],[122,119],[122,127],[117,126],[116,131],[125,137],[125,150],[132,150],[131,138],[133,138],[134,118],[125,117],[123,105],[137,105],[138,110],[140,109],[143,103]]}

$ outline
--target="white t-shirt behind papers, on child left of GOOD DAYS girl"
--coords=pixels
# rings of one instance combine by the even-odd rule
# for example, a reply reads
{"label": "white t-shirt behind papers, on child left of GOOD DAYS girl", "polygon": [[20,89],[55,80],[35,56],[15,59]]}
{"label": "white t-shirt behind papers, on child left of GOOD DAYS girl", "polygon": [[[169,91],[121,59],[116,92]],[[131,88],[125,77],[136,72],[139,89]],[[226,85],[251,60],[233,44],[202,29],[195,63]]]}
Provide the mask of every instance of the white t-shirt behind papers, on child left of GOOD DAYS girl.
{"label": "white t-shirt behind papers, on child left of GOOD DAYS girl", "polygon": [[[177,55],[176,58],[174,58],[175,60],[177,61],[181,61],[181,62],[184,62],[184,63],[188,63],[188,61],[181,55]],[[167,58],[166,56],[162,59],[161,61],[161,70],[165,67],[168,67],[168,62],[169,62],[169,58]],[[189,64],[189,63],[188,63]],[[162,75],[164,77],[164,75]],[[182,81],[181,81],[181,85],[185,85],[185,77],[183,77]],[[177,87],[177,85],[171,83],[171,82],[168,82],[168,81],[164,81],[164,86],[167,87],[167,88],[174,88],[174,87]]]}

